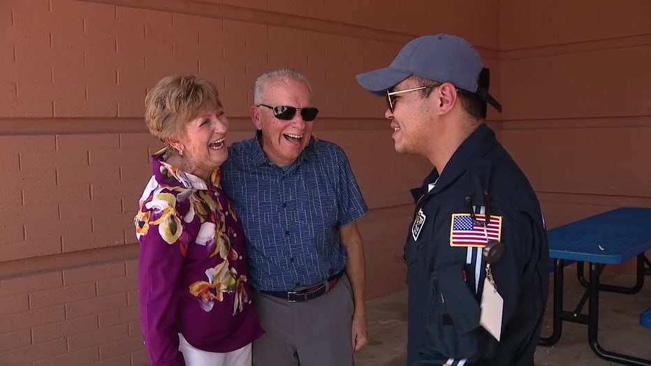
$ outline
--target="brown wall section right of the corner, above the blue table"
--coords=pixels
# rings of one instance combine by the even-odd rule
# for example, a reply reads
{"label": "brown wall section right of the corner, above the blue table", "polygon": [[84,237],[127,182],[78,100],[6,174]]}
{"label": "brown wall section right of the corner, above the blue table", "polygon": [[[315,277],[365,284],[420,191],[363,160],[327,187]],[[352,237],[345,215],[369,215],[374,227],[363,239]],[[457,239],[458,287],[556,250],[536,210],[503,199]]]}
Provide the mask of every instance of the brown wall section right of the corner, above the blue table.
{"label": "brown wall section right of the corner, above the blue table", "polygon": [[651,207],[651,2],[502,0],[499,138],[548,226]]}

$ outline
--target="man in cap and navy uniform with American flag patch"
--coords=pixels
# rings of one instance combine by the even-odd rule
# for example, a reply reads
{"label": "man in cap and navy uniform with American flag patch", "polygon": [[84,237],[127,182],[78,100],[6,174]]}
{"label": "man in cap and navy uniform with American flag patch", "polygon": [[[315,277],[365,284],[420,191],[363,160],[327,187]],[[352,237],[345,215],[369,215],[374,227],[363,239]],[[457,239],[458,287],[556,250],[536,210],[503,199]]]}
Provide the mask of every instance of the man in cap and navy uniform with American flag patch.
{"label": "man in cap and navy uniform with American flag patch", "polygon": [[485,124],[489,73],[474,47],[438,34],[363,73],[385,96],[395,150],[434,166],[412,191],[404,246],[408,365],[534,365],[548,291],[536,194]]}

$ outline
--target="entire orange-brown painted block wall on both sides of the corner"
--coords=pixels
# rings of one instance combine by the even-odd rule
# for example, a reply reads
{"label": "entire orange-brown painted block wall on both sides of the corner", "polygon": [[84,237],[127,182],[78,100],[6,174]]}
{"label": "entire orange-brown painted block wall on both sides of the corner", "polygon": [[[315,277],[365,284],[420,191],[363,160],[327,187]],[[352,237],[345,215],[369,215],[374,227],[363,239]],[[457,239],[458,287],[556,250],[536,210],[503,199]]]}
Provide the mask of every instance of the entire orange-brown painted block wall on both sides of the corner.
{"label": "entire orange-brown painted block wall on both sides of the corner", "polygon": [[[316,136],[344,147],[370,206],[360,221],[369,298],[404,288],[408,189],[430,164],[395,154],[383,101],[354,75],[385,66],[421,34],[478,46],[505,106],[490,124],[531,177],[550,227],[651,206],[641,160],[650,152],[650,9],[610,6],[0,0],[0,366],[147,363],[132,218],[149,153],[161,146],[145,130],[142,99],[170,73],[216,83],[231,141],[253,133],[256,75],[293,66],[311,78]],[[598,65],[605,74],[590,71]]]}

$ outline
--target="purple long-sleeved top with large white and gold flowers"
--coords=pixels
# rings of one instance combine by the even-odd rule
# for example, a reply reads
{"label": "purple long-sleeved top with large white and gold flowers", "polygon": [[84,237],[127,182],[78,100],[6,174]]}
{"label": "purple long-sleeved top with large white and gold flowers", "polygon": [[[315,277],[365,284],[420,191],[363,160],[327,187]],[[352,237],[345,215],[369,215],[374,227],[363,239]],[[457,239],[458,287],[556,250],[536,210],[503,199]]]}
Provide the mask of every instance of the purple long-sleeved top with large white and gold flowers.
{"label": "purple long-sleeved top with large white and gold flowers", "polygon": [[152,156],[154,175],[136,215],[138,299],[152,365],[184,365],[179,333],[210,352],[242,348],[263,334],[251,306],[242,224],[219,185]]}

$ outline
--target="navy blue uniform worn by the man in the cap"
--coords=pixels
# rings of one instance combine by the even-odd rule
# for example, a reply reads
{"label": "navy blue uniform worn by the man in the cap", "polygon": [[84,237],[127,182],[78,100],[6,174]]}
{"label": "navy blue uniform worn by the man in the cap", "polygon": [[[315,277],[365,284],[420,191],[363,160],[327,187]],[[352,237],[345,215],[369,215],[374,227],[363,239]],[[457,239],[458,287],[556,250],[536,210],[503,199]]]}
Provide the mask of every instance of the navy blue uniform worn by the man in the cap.
{"label": "navy blue uniform worn by the man in the cap", "polygon": [[[539,202],[525,175],[495,133],[481,124],[443,173],[439,176],[434,169],[412,193],[416,213],[404,246],[407,364],[534,365],[547,300],[549,253]],[[479,324],[485,263],[481,247],[464,246],[469,206],[478,214],[490,211],[501,217],[491,220],[505,249],[491,265],[504,299],[499,342]]]}

